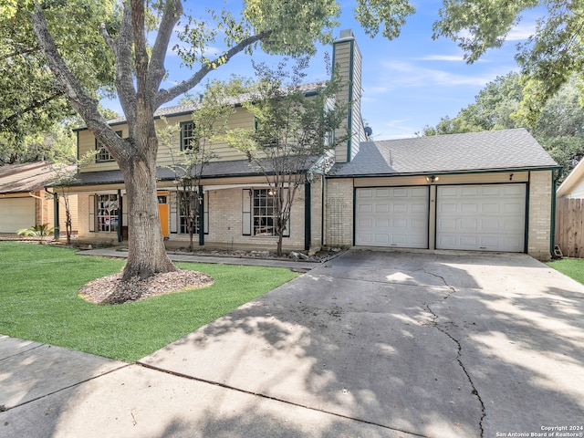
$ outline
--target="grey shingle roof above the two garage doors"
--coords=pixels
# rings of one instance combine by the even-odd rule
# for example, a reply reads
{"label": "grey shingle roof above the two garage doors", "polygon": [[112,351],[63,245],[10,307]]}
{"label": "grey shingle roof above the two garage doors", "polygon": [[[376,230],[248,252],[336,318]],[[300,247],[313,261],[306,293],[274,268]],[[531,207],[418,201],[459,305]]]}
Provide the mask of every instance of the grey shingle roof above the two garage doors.
{"label": "grey shingle roof above the two garage doors", "polygon": [[367,141],[332,177],[554,168],[525,129],[491,130],[391,141]]}

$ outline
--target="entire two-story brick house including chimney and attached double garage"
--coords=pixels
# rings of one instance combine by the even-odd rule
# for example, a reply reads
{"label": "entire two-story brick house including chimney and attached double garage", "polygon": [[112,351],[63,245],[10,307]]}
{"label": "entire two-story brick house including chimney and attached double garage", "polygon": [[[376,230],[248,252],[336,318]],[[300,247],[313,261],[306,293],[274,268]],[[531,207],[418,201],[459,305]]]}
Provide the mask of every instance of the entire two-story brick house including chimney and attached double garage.
{"label": "entire two-story brick house including chimney and attached double garage", "polygon": [[[307,182],[294,204],[284,246],[386,246],[528,253],[548,259],[553,249],[554,172],[558,165],[526,130],[455,134],[397,141],[366,141],[360,116],[361,57],[350,31],[333,43],[333,61],[349,85],[338,99],[351,102],[345,127],[349,141],[335,151],[328,174],[304,171]],[[311,84],[305,86],[310,93]],[[192,106],[162,109],[178,123],[177,150],[189,144]],[[162,121],[160,121],[162,123]],[[253,127],[240,106],[231,128]],[[123,119],[112,120],[123,137]],[[127,229],[121,172],[93,134],[78,129],[78,155],[97,151],[80,169],[79,238],[121,241]],[[201,242],[209,247],[276,247],[271,196],[264,175],[243,153],[217,143],[218,158],[202,177]],[[158,155],[158,197],[167,245],[187,245],[183,196],[173,184],[167,151]]]}

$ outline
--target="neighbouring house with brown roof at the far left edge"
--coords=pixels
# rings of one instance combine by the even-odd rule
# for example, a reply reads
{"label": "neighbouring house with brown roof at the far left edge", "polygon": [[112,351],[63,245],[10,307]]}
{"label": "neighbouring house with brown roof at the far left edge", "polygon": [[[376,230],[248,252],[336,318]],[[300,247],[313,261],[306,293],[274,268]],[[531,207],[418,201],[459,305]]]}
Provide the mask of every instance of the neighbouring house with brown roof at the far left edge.
{"label": "neighbouring house with brown roof at the far left edge", "polygon": [[[74,169],[73,169],[74,170]],[[26,162],[0,167],[0,233],[16,234],[16,230],[37,224],[55,224],[53,193],[45,187],[55,180],[50,162]],[[77,229],[77,198],[70,199],[73,229]],[[60,201],[60,209],[65,206]],[[65,230],[65,214],[59,217]]]}

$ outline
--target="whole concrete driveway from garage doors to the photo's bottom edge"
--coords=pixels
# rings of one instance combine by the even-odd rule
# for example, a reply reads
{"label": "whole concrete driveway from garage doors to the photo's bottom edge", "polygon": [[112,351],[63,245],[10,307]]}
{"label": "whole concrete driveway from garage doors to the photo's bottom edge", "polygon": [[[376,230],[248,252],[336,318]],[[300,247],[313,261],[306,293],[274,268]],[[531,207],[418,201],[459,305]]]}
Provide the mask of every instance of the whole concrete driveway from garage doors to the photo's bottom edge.
{"label": "whole concrete driveway from garage doors to the photo's bottom edge", "polygon": [[583,298],[527,255],[349,251],[33,401],[0,368],[0,436],[583,436]]}

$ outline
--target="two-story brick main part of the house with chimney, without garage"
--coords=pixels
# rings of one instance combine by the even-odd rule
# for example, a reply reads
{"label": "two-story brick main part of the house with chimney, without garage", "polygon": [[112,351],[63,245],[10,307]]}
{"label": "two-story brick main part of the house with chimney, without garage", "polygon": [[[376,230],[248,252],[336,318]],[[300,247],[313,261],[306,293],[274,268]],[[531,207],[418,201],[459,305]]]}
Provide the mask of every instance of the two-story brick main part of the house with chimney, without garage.
{"label": "two-story brick main part of the house with chimney, without garage", "polygon": [[[356,103],[349,110],[347,123],[353,135],[337,152],[337,162],[354,156],[360,141],[365,139],[360,117],[360,52],[350,31],[334,44],[334,62],[341,68],[341,75],[350,83],[338,99]],[[307,84],[303,90],[313,93],[318,84]],[[180,105],[158,110],[155,117],[162,127],[162,117],[168,124],[180,125],[180,133],[174,139],[176,150],[191,147],[193,136],[193,110],[195,105]],[[241,105],[228,120],[230,128],[253,127],[252,114]],[[110,126],[121,137],[128,136],[128,127],[123,118],[110,120]],[[127,238],[125,190],[121,172],[108,151],[99,145],[91,131],[79,128],[78,156],[96,151],[95,160],[79,169],[75,187],[78,193],[80,217],[86,218],[78,227],[80,240],[117,242]],[[226,143],[213,145],[215,158],[204,167],[201,186],[195,202],[201,202],[203,217],[195,220],[195,234],[202,235],[201,242],[214,246],[249,246],[272,248],[276,243],[273,217],[273,196],[269,193],[266,176],[253,169],[245,154]],[[189,240],[188,218],[183,216],[180,203],[183,193],[174,184],[175,175],[167,168],[172,156],[166,148],[159,148],[157,157],[159,214],[162,235],[167,245],[185,245]],[[318,172],[304,169],[311,177],[300,188],[287,226],[287,248],[308,249],[322,245],[324,181]],[[194,209],[196,212],[198,208]],[[202,228],[199,229],[199,224]]]}

